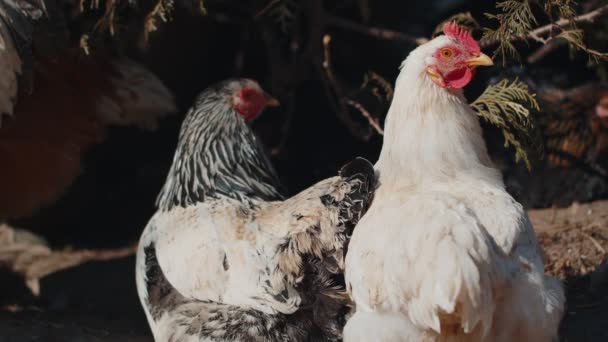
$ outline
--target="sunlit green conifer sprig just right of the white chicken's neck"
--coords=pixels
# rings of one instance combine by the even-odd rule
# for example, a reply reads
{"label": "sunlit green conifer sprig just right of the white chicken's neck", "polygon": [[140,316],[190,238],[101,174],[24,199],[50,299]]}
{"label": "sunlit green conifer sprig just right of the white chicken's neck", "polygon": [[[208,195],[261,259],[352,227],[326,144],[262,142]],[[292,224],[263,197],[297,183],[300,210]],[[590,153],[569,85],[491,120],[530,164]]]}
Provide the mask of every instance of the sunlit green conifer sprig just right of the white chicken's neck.
{"label": "sunlit green conifer sprig just right of the white chicken's neck", "polygon": [[[515,149],[515,160],[523,160],[528,170],[532,164],[528,153],[520,140],[534,140],[532,132],[534,126],[531,121],[531,110],[540,110],[536,101],[536,94],[530,93],[528,86],[519,81],[508,79],[490,85],[471,103],[484,120],[498,127],[505,139],[505,147]],[[518,139],[518,137],[525,139]]]}

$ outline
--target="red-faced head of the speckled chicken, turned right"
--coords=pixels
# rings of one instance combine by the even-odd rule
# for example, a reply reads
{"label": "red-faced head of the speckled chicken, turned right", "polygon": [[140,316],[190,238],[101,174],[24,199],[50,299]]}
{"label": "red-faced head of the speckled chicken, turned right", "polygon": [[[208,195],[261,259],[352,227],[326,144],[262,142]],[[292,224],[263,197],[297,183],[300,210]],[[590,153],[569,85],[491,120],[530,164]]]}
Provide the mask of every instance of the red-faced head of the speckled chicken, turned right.
{"label": "red-faced head of the speckled chicken, turned right", "polygon": [[265,92],[254,80],[234,79],[224,86],[232,108],[247,121],[258,117],[264,108],[279,105],[279,101]]}

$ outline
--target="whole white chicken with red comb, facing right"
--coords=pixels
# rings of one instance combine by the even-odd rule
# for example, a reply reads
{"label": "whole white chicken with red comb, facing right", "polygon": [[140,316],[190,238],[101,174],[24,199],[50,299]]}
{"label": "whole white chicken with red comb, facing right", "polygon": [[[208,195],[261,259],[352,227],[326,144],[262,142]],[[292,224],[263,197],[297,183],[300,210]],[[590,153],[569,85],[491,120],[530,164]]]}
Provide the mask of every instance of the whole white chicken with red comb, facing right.
{"label": "whole white chicken with red comb, facing right", "polygon": [[462,88],[492,65],[455,23],[401,66],[379,187],[346,256],[344,340],[551,341],[564,293]]}

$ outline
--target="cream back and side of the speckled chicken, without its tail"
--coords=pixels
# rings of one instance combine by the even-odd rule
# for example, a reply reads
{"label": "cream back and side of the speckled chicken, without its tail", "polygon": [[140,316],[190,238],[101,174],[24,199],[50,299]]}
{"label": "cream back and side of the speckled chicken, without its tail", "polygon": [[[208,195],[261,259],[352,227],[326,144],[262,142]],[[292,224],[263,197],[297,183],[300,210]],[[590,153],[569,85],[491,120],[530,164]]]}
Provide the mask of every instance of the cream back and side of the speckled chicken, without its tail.
{"label": "cream back and side of the speckled chicken, without its tail", "polygon": [[294,288],[270,288],[267,258],[281,239],[260,234],[243,222],[242,206],[224,201],[158,212],[144,230],[137,289],[155,339],[334,341],[313,321],[311,306],[299,307]]}

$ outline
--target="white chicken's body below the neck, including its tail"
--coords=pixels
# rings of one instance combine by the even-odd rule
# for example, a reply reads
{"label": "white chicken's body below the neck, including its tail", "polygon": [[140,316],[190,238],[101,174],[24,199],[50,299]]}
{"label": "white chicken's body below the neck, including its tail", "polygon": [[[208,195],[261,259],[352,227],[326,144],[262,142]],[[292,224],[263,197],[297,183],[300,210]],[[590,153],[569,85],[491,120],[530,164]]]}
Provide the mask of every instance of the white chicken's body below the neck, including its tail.
{"label": "white chicken's body below the neck, including its tail", "polygon": [[543,334],[557,331],[563,290],[544,276],[532,226],[506,192],[479,180],[383,187],[349,244],[357,313],[345,341],[364,341],[362,331],[383,342],[553,337]]}

